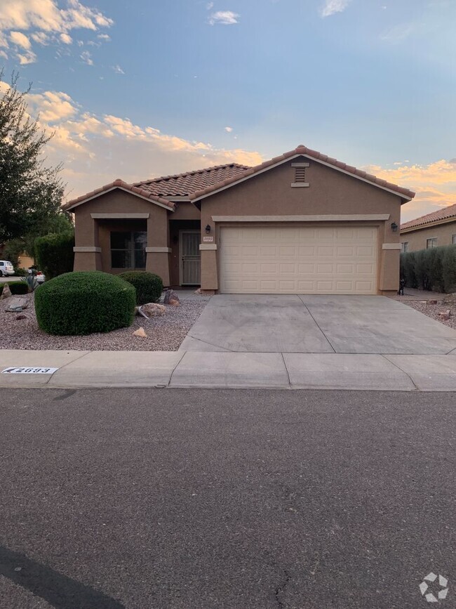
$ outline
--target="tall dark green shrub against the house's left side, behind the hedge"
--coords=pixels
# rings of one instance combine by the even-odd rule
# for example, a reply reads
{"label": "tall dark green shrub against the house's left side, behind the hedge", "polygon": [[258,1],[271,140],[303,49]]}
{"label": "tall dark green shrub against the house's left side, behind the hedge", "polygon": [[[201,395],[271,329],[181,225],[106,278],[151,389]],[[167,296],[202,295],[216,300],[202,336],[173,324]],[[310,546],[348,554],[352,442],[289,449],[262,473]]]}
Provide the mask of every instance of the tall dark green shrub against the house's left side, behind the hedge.
{"label": "tall dark green shrub against the house's left side, behind the hedge", "polygon": [[46,280],[70,273],[74,265],[74,233],[51,233],[34,242],[36,265]]}

